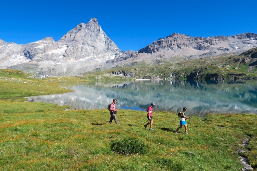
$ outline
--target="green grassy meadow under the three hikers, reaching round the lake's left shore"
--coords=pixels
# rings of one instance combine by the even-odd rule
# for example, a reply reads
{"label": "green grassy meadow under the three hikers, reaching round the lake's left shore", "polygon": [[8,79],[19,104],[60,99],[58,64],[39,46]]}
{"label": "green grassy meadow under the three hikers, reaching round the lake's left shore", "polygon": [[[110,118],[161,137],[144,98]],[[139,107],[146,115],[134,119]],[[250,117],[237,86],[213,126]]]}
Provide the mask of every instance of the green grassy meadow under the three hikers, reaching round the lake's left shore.
{"label": "green grassy meadow under the three hikers, reaching round the lake's left shore", "polygon": [[[180,120],[176,113],[154,111],[154,131],[144,129],[143,111],[119,110],[120,125],[109,125],[106,109],[65,110],[69,107],[22,101],[70,90],[59,88],[57,80],[11,77],[13,72],[0,70],[0,170],[234,171],[242,168],[240,149],[257,166],[256,115],[193,116],[187,120],[189,135],[184,128],[173,132]],[[5,74],[14,79],[6,80]]]}

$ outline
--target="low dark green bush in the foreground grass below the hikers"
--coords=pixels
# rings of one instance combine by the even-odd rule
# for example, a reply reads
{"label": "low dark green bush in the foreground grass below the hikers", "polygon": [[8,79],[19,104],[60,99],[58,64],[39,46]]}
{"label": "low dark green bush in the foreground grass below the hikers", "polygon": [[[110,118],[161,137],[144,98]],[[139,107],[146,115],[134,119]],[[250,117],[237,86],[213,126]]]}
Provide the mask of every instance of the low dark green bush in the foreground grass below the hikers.
{"label": "low dark green bush in the foreground grass below the hikers", "polygon": [[146,154],[147,146],[141,139],[126,137],[110,142],[111,149],[122,155]]}

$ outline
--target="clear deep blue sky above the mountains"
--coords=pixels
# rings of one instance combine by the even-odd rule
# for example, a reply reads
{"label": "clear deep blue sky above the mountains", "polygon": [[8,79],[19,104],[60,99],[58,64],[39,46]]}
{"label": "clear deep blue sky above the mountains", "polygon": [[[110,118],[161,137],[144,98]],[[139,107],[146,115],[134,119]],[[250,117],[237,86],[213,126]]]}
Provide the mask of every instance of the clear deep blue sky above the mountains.
{"label": "clear deep blue sky above the mountains", "polygon": [[174,32],[191,37],[257,34],[256,0],[4,0],[0,7],[0,39],[17,44],[45,37],[57,41],[91,18],[122,51],[139,50]]}

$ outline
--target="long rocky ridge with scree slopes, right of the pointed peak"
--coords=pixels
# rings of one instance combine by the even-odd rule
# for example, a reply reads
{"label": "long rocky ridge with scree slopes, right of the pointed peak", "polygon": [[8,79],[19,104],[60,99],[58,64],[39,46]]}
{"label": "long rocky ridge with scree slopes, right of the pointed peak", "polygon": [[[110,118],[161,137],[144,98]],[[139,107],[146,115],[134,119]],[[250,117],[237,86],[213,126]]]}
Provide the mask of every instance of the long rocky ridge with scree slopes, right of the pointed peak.
{"label": "long rocky ridge with scree slopes, right of the pointed peak", "polygon": [[148,46],[126,56],[109,60],[109,63],[122,65],[140,61],[182,61],[216,56],[232,52],[244,52],[257,47],[257,34],[243,33],[235,36],[190,37],[173,33],[160,38]]}

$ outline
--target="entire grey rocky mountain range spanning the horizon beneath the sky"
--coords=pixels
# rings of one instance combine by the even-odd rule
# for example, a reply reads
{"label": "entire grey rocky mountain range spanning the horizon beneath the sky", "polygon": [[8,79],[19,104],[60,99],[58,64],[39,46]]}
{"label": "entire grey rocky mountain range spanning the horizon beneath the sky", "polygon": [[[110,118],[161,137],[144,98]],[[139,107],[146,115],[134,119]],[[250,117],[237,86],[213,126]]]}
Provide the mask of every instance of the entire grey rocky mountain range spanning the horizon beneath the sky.
{"label": "entire grey rocky mountain range spanning the horizon beneath the sky", "polygon": [[96,18],[80,23],[55,42],[52,37],[28,44],[7,43],[0,39],[0,69],[27,73],[74,76],[98,68],[183,61],[225,53],[241,53],[257,47],[257,34],[190,37],[173,33],[134,52],[121,51],[107,36]]}

